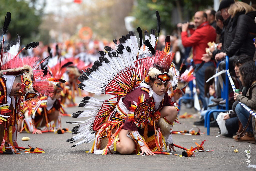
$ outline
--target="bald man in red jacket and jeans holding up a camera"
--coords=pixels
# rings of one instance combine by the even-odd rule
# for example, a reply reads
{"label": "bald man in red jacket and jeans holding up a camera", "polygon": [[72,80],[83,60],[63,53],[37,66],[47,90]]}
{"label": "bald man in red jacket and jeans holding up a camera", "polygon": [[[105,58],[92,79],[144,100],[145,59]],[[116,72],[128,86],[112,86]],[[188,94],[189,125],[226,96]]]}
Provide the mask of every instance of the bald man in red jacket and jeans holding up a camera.
{"label": "bald man in red jacket and jeans holding up a camera", "polygon": [[[216,30],[207,22],[207,14],[203,11],[198,11],[195,14],[195,27],[196,30],[190,30],[192,35],[188,37],[188,26],[189,23],[182,25],[181,39],[183,46],[193,47],[193,60],[198,68],[202,63],[203,54],[205,54],[205,48],[208,48],[207,43],[216,41]],[[200,90],[200,98],[203,102],[205,109],[207,109],[207,103],[205,101],[205,69],[209,66],[214,66],[213,61],[205,63],[196,72],[196,82]]]}

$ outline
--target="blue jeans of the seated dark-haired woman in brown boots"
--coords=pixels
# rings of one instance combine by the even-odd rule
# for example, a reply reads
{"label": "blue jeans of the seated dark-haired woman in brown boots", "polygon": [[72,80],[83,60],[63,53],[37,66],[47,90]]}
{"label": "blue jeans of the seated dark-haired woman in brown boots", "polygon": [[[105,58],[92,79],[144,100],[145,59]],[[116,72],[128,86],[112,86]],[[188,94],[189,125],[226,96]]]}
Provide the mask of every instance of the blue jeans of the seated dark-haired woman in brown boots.
{"label": "blue jeans of the seated dark-haired woman in brown boots", "polygon": [[[248,107],[249,108],[249,107]],[[250,113],[241,106],[241,104],[238,104],[236,106],[236,113],[239,121],[242,123],[243,127],[247,125]],[[252,132],[252,117],[251,117],[251,122],[249,123],[246,132]]]}

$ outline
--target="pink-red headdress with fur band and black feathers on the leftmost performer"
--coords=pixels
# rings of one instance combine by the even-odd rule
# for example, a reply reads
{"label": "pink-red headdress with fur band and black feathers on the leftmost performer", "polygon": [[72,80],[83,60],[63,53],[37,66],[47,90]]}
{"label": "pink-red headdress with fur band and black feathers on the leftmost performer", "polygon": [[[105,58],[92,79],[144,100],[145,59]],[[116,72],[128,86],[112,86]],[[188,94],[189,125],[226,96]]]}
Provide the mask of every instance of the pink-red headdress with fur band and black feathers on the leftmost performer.
{"label": "pink-red headdress with fur band and black feathers on the leftmost performer", "polygon": [[[7,32],[10,20],[11,14],[8,12],[3,26],[4,34]],[[28,44],[18,53],[19,44],[20,37],[18,36],[17,39],[11,41],[11,44],[4,49],[3,37],[2,51],[0,56],[0,76],[20,76],[22,86],[18,93],[24,96],[25,101],[36,97],[38,93],[53,96],[54,89],[48,80],[50,78],[50,74],[45,70],[39,69],[40,64],[43,63],[44,60],[37,65],[39,58],[24,57],[21,59],[18,56],[22,50],[35,48],[39,45],[39,43],[33,42]]]}

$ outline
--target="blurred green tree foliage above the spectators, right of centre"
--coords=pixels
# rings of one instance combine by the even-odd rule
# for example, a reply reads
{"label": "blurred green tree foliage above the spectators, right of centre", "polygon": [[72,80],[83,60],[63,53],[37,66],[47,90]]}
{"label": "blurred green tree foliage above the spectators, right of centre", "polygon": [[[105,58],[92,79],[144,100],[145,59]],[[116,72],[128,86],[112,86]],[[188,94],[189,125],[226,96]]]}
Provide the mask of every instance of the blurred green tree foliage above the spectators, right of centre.
{"label": "blurred green tree foliage above the spectators, right of centre", "polygon": [[[180,22],[185,22],[184,18],[191,19],[197,11],[212,6],[213,0],[137,0],[132,12],[132,15],[136,17],[134,27],[141,27],[148,31],[151,28],[156,29],[155,12],[158,10],[161,17],[161,28],[166,30],[167,35],[170,35],[176,28],[176,25],[172,24],[172,17],[178,17]],[[174,9],[177,10],[175,16],[173,16]]]}

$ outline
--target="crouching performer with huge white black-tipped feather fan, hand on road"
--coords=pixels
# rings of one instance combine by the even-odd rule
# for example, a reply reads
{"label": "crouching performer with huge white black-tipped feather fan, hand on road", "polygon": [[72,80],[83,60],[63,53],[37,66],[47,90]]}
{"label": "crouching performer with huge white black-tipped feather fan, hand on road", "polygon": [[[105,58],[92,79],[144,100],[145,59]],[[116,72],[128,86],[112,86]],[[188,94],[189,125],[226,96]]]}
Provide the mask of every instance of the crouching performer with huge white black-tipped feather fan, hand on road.
{"label": "crouching performer with huge white black-tipped feather fan, hand on road", "polygon": [[[172,127],[178,110],[167,94],[168,82],[174,81],[172,60],[174,54],[169,51],[155,51],[155,31],[145,33],[145,48],[140,45],[133,32],[114,40],[116,51],[105,47],[100,51],[102,57],[94,62],[91,69],[85,70],[79,77],[79,88],[95,94],[112,94],[116,97],[106,101],[84,97],[73,117],[91,117],[86,121],[67,122],[80,124],[72,130],[76,134],[67,142],[82,141],[73,145],[93,141],[88,153],[108,154],[119,152],[132,154],[145,152],[154,155],[154,151],[163,151],[168,143],[171,147]],[[139,48],[138,48],[139,47]]]}

